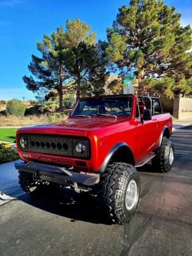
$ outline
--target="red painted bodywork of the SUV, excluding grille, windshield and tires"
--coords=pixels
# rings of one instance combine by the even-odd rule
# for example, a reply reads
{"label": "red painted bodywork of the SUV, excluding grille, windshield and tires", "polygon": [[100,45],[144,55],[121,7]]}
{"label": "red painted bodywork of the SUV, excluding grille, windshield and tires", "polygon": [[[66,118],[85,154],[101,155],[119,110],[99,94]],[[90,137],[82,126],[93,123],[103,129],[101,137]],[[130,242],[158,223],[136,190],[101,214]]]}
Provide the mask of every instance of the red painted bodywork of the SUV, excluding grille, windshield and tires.
{"label": "red painted bodywork of the SUV, excluding grille, windshield and tires", "polygon": [[[126,95],[124,95],[126,96]],[[91,118],[68,118],[59,124],[42,124],[37,126],[22,127],[19,133],[39,133],[50,135],[74,135],[87,137],[91,144],[91,158],[84,160],[87,167],[77,167],[76,160],[80,158],[63,157],[57,155],[40,154],[35,152],[29,154],[29,158],[24,158],[22,151],[18,147],[20,158],[27,160],[42,160],[44,162],[63,163],[73,165],[78,171],[94,172],[97,171],[105,160],[110,149],[119,142],[126,143],[131,149],[135,162],[149,154],[157,148],[163,127],[168,127],[169,133],[172,132],[172,117],[169,113],[152,115],[152,120],[141,123],[140,118],[135,118],[137,97],[133,97],[132,114],[129,117],[91,117]],[[18,136],[16,136],[18,137]]]}

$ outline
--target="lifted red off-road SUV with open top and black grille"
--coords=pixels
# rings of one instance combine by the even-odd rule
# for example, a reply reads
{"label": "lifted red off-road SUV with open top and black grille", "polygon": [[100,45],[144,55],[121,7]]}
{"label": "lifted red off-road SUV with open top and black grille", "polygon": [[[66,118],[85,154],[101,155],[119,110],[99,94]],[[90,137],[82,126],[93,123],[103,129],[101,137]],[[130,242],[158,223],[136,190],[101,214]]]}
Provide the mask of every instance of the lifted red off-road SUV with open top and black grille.
{"label": "lifted red off-road SUV with open top and black grille", "polygon": [[159,98],[133,94],[82,98],[66,121],[22,127],[16,134],[23,162],[15,163],[27,193],[59,184],[93,188],[113,221],[128,222],[140,202],[137,167],[155,171],[174,162],[172,117]]}

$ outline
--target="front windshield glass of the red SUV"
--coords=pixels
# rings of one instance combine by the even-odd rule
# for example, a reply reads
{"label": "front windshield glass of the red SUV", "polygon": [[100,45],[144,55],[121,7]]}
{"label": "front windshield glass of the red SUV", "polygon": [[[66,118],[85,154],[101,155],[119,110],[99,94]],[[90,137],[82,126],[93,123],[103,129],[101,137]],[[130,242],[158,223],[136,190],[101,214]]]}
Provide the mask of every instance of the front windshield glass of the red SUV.
{"label": "front windshield glass of the red SUV", "polygon": [[102,97],[82,99],[77,104],[76,116],[129,116],[132,112],[132,97]]}

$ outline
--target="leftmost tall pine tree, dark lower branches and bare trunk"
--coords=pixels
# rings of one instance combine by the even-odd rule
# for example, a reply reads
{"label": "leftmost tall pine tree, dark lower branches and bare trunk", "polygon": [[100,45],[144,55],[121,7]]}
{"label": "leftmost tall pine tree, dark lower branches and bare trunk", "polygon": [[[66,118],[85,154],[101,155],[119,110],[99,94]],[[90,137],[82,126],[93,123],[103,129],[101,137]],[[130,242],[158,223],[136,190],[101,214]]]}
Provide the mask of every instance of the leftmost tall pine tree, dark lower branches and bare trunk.
{"label": "leftmost tall pine tree, dark lower branches and bare trunk", "polygon": [[64,66],[64,57],[66,49],[65,32],[62,27],[57,28],[51,37],[44,35],[43,43],[37,43],[37,49],[42,57],[32,55],[32,62],[28,68],[33,76],[24,76],[23,80],[26,87],[33,92],[43,92],[44,94],[56,90],[59,94],[59,110],[63,111],[63,87],[68,79],[68,74]]}

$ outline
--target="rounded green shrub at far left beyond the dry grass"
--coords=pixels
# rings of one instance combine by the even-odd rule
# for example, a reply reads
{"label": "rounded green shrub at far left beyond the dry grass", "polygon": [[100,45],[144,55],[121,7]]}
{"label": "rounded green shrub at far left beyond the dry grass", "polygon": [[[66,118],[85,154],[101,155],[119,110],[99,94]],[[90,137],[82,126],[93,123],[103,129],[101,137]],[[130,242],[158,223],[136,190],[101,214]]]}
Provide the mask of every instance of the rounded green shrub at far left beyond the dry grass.
{"label": "rounded green shrub at far left beyond the dry grass", "polygon": [[12,99],[7,103],[6,113],[8,115],[24,116],[26,106],[18,99]]}

